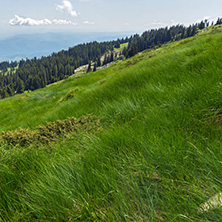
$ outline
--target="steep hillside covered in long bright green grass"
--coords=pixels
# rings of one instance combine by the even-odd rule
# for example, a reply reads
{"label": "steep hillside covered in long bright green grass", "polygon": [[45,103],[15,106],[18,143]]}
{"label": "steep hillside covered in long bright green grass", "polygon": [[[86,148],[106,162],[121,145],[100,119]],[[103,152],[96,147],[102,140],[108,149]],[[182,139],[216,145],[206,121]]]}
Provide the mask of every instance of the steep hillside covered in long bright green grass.
{"label": "steep hillside covered in long bright green grass", "polygon": [[[0,221],[220,221],[222,32],[0,100],[0,132],[96,116],[95,130],[1,140]],[[48,123],[49,124],[49,123]],[[85,123],[88,129],[87,124]]]}

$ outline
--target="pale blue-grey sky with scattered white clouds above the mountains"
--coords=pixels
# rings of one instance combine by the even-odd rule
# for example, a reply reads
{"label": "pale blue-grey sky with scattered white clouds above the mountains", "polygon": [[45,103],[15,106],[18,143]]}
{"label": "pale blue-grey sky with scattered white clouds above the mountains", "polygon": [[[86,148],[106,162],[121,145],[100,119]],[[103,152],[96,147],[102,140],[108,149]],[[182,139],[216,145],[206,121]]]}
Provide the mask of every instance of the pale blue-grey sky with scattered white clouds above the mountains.
{"label": "pale blue-grey sky with scattered white clouds above the mountains", "polygon": [[0,3],[2,36],[50,31],[141,32],[222,17],[221,0],[0,0]]}

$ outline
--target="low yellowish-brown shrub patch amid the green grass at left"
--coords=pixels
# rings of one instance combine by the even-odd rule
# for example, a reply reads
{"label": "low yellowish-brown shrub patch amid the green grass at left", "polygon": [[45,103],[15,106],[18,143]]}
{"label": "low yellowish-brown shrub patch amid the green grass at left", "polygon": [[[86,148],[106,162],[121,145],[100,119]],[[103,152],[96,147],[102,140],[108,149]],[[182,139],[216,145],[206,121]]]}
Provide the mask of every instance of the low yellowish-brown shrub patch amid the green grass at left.
{"label": "low yellowish-brown shrub patch amid the green grass at left", "polygon": [[79,131],[90,132],[100,127],[100,121],[97,117],[90,114],[80,118],[69,117],[64,120],[47,122],[46,125],[38,126],[37,130],[22,129],[18,131],[2,132],[1,140],[10,145],[27,146],[32,143],[46,144],[53,142],[58,137],[65,137],[70,133]]}

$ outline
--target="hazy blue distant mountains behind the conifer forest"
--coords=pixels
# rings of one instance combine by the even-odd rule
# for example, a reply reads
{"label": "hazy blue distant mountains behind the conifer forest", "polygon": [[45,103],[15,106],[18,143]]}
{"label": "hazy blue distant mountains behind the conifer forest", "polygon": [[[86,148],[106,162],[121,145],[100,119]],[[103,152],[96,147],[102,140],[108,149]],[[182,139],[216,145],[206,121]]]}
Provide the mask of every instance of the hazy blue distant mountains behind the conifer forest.
{"label": "hazy blue distant mountains behind the conifer forest", "polygon": [[50,55],[80,43],[108,41],[129,33],[36,33],[8,37],[0,41],[0,62]]}

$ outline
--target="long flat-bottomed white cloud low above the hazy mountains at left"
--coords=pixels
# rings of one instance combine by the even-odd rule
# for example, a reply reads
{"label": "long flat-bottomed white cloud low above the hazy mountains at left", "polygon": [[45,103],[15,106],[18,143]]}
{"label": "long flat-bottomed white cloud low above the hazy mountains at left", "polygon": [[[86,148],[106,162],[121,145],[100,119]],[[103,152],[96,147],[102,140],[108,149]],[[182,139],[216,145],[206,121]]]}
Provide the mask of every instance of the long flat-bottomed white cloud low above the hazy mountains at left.
{"label": "long flat-bottomed white cloud low above the hazy mountains at left", "polygon": [[68,20],[49,20],[49,19],[32,19],[32,18],[23,18],[18,15],[15,15],[14,18],[9,20],[9,24],[12,26],[44,26],[44,25],[77,25],[74,22]]}

